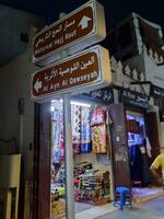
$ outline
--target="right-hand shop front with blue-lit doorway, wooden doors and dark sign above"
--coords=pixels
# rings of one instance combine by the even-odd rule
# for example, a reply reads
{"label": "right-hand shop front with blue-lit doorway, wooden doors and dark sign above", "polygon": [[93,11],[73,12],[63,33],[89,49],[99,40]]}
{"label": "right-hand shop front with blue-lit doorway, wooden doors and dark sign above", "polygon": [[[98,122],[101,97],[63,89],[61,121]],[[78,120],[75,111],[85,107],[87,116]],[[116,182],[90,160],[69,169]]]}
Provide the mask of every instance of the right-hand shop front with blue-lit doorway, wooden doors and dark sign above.
{"label": "right-hand shop front with blue-lit doorway, wooden doors and dark sign above", "polygon": [[116,111],[112,111],[113,119],[117,118],[113,131],[114,171],[116,175],[122,169],[126,176],[122,174],[118,177],[117,174],[115,186],[131,187],[133,200],[142,201],[161,193],[154,187],[155,182],[149,171],[160,152],[156,113],[150,111],[145,94],[121,88],[118,89],[118,96],[119,118]]}

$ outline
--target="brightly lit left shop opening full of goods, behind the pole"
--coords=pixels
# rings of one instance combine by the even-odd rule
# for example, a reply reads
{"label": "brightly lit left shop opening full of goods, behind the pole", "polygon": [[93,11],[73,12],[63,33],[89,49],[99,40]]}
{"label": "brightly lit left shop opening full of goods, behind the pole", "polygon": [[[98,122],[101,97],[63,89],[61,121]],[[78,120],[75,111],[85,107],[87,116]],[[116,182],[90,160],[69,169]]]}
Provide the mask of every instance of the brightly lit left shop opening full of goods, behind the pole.
{"label": "brightly lit left shop opening full of goods, behind the pole", "polygon": [[[66,175],[62,100],[51,101],[51,218],[66,215]],[[99,102],[71,101],[74,210],[93,214],[95,206],[113,199],[112,142],[108,106]],[[103,206],[105,206],[103,208]],[[108,206],[108,210],[109,210]],[[104,212],[103,212],[104,210]]]}

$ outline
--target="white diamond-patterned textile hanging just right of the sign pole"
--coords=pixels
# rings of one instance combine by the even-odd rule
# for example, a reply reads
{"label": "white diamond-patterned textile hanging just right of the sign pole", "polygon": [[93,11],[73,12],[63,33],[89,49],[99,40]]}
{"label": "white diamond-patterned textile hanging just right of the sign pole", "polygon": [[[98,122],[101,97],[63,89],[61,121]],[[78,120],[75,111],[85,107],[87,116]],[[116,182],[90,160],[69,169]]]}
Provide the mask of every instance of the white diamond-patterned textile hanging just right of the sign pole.
{"label": "white diamond-patterned textile hanging just right of the sign pole", "polygon": [[72,146],[73,153],[80,153],[81,145],[81,106],[71,105]]}

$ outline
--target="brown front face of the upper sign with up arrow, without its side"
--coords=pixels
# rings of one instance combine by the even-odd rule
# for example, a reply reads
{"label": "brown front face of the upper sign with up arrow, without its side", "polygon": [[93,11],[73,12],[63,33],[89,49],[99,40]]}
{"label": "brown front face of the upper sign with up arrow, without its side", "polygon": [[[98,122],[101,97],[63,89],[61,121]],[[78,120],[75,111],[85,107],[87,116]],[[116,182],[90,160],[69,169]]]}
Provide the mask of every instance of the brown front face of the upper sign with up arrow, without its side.
{"label": "brown front face of the upper sign with up arrow, without its side", "polygon": [[34,42],[34,55],[39,57],[66,44],[85,36],[93,30],[93,9],[86,7],[66,21],[38,35]]}

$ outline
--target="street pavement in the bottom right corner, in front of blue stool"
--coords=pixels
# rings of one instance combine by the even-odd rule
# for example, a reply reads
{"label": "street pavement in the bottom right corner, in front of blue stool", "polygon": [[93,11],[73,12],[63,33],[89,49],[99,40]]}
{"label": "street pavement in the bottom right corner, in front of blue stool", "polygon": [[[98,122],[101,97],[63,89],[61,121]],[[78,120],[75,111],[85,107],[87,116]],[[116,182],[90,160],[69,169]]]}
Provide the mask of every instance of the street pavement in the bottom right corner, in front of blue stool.
{"label": "street pavement in the bottom right corner, in front of blue stool", "polygon": [[164,196],[153,200],[133,204],[133,209],[125,208],[122,211],[115,210],[97,219],[163,219],[164,218]]}

